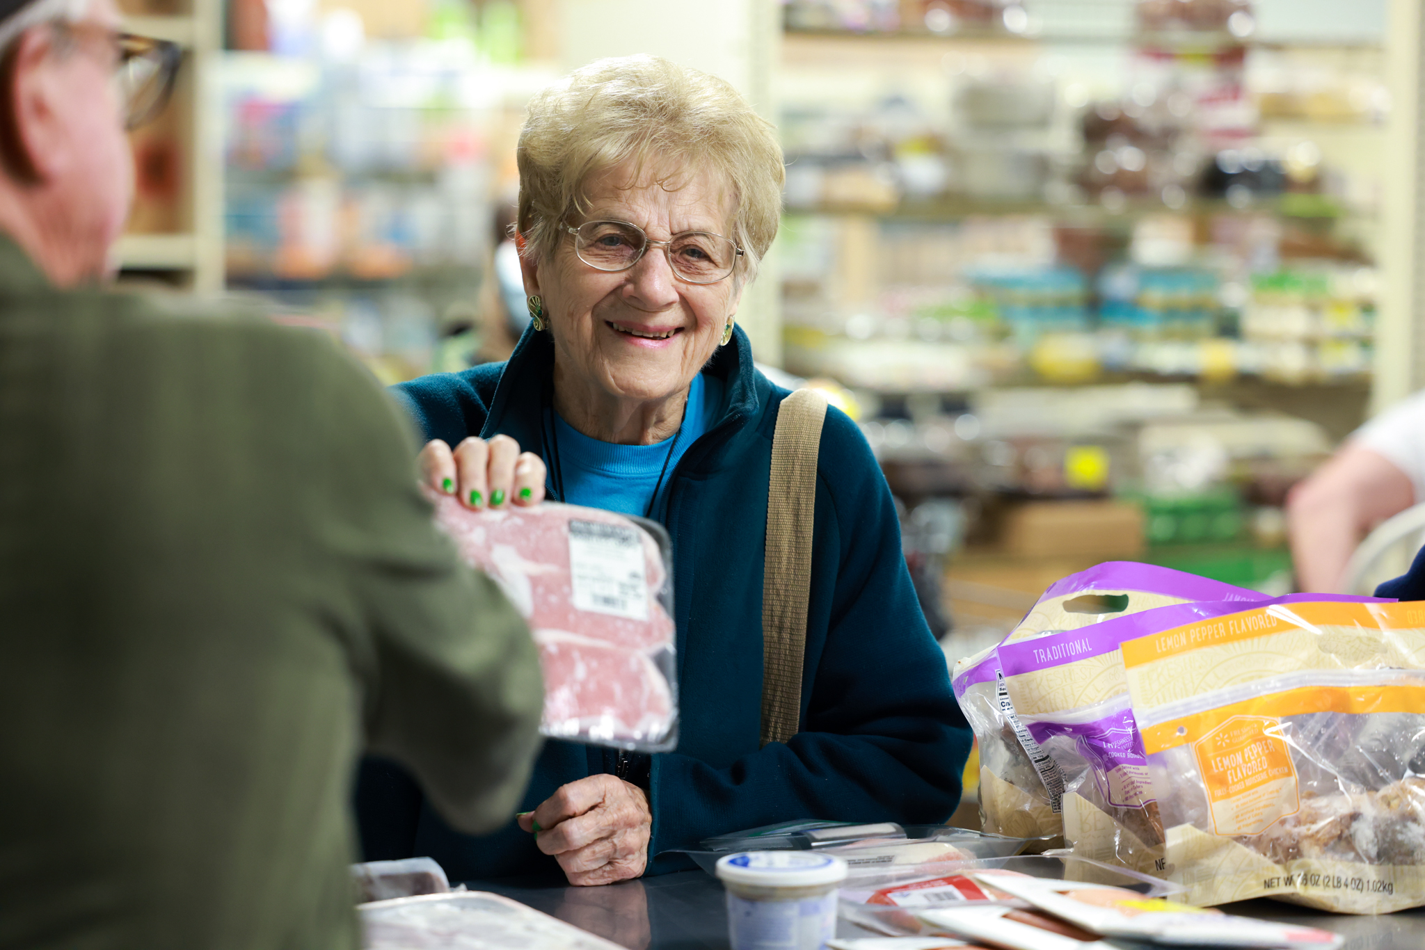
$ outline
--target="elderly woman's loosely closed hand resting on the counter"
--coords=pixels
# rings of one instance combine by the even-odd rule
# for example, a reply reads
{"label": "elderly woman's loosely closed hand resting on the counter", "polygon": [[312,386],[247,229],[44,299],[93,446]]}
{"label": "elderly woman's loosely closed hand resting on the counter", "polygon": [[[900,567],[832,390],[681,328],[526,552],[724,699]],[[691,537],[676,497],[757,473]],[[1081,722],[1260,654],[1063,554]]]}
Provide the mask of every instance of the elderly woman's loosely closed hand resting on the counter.
{"label": "elderly woman's loosely closed hand resting on the counter", "polygon": [[534,842],[571,884],[611,884],[638,877],[648,865],[648,796],[613,775],[570,782],[516,820],[526,832],[539,822]]}

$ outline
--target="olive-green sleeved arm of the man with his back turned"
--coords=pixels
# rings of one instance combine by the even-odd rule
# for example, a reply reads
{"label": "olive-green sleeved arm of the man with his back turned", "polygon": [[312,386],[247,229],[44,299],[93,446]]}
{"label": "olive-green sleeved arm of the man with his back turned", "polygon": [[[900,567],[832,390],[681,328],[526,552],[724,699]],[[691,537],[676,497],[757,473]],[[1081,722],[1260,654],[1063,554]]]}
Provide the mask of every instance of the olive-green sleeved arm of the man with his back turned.
{"label": "olive-green sleeved arm of the man with his back turned", "polygon": [[362,527],[343,540],[372,635],[368,751],[406,765],[453,826],[490,830],[510,819],[539,751],[539,657],[494,583],[432,523],[405,407],[349,376],[328,417],[346,430],[332,469],[353,480]]}

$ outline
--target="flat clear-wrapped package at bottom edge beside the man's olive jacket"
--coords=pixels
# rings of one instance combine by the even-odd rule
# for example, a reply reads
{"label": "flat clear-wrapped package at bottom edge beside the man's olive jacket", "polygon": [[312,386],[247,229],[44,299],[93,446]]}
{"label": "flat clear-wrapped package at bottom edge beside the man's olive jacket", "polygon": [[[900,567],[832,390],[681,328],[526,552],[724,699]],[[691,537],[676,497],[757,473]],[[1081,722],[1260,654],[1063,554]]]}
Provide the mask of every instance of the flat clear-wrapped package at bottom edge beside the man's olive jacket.
{"label": "flat clear-wrapped package at bottom edge beside the man's olive jacket", "polygon": [[479,890],[361,904],[363,950],[621,950],[614,943]]}

